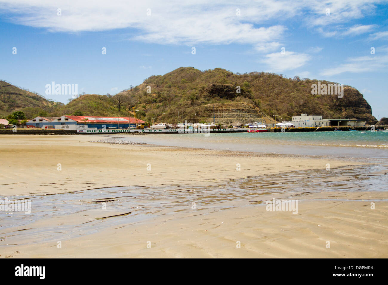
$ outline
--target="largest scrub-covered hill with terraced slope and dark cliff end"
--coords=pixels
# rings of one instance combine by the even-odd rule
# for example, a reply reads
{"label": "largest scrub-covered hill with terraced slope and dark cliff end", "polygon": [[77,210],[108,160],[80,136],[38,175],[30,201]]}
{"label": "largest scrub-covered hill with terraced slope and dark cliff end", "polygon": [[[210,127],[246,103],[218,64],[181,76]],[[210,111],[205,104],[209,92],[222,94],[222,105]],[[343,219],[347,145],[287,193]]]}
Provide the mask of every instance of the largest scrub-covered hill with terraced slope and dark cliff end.
{"label": "largest scrub-covered hill with terraced slope and dark cliff end", "polygon": [[[215,119],[216,123],[248,122],[265,119],[265,115],[269,123],[274,115],[279,115],[279,121],[301,113],[376,121],[371,106],[355,88],[345,85],[343,98],[312,95],[311,86],[317,82],[317,79],[284,78],[274,73],[235,74],[221,68],[200,71],[180,67],[163,76],[151,76],[132,90],[119,94],[127,95],[136,109],[143,110],[146,121],[177,122],[178,111],[180,121]],[[236,92],[237,86],[241,88],[240,93]]]}

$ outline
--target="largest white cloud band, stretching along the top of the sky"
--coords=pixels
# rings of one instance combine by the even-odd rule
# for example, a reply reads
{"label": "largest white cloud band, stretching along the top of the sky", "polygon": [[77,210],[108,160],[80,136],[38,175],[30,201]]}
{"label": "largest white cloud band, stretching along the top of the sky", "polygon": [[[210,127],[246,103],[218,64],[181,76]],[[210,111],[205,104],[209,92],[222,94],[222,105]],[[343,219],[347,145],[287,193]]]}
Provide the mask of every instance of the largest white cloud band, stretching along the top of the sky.
{"label": "largest white cloud band, stretching along the top of the sky", "polygon": [[[260,52],[276,48],[284,22],[296,18],[308,26],[326,26],[363,17],[379,0],[0,0],[3,19],[49,31],[82,32],[132,28],[132,40],[161,44],[256,45]],[[61,8],[62,16],[57,16]],[[236,9],[240,9],[237,16]],[[326,16],[326,9],[331,15]],[[150,16],[147,16],[150,9]],[[8,16],[12,13],[12,16]],[[361,28],[360,28],[361,29]],[[335,32],[325,32],[326,36]],[[278,47],[278,46],[277,46]]]}

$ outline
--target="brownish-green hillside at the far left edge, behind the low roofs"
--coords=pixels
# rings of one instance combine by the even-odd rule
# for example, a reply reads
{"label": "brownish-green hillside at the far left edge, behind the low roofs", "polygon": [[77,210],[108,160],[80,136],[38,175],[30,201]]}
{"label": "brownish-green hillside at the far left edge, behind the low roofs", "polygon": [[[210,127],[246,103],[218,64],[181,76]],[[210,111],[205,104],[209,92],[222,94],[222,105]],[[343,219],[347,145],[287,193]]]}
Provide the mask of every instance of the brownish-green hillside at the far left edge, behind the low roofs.
{"label": "brownish-green hillside at the far left edge, behind the low roofs", "polygon": [[23,111],[24,108],[52,112],[57,103],[47,100],[36,93],[23,90],[8,82],[0,81],[0,115],[5,116],[14,111]]}

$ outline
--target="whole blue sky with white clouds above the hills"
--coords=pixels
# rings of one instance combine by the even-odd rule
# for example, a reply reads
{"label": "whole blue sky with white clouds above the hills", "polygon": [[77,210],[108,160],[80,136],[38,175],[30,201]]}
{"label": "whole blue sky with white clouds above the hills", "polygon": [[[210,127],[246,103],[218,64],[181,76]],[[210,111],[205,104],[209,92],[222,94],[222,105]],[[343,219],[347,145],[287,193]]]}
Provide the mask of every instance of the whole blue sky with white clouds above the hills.
{"label": "whole blue sky with white clouds above the hills", "polygon": [[71,95],[46,84],[115,94],[180,66],[221,67],[350,85],[388,117],[387,1],[0,0],[0,27],[0,79],[63,103]]}

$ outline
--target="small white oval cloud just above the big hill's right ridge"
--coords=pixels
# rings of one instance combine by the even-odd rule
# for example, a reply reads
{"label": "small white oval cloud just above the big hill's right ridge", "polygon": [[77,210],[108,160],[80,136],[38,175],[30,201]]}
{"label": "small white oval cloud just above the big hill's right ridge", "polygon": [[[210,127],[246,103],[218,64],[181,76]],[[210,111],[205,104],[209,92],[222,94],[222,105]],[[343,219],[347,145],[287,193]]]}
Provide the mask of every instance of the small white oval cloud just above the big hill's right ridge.
{"label": "small white oval cloud just above the big hill's right ridge", "polygon": [[308,54],[286,51],[285,54],[281,52],[267,54],[263,62],[270,67],[271,71],[282,72],[304,66],[310,58]]}

